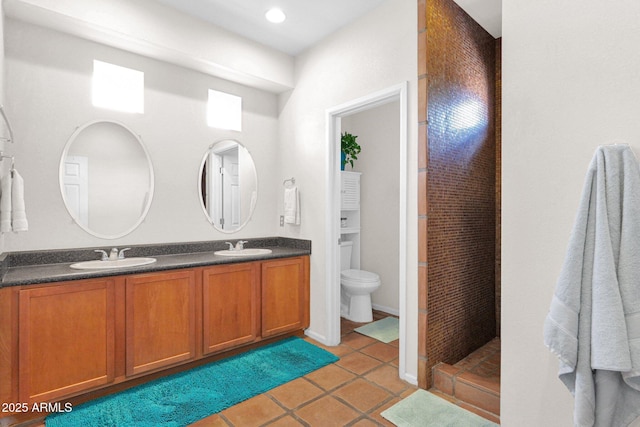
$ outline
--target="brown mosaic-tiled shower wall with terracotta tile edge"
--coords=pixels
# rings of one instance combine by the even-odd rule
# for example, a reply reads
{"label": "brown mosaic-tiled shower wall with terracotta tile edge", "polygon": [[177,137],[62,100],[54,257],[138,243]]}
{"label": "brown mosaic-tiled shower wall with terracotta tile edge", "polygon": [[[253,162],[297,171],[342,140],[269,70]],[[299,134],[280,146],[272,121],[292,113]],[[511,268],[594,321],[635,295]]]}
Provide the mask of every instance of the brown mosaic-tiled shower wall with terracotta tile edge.
{"label": "brown mosaic-tiled shower wall with terracotta tile edge", "polygon": [[496,41],[452,0],[418,7],[419,381],[427,388],[433,366],[496,336]]}

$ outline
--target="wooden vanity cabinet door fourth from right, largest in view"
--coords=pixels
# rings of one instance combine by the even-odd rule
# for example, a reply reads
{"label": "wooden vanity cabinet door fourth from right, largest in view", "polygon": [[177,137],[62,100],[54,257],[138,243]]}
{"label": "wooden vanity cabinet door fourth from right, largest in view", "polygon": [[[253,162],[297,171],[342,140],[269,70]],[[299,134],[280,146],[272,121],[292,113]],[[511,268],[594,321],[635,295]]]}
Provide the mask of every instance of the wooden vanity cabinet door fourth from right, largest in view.
{"label": "wooden vanity cabinet door fourth from right, largest in view", "polygon": [[67,282],[19,294],[19,395],[41,402],[113,381],[113,280]]}

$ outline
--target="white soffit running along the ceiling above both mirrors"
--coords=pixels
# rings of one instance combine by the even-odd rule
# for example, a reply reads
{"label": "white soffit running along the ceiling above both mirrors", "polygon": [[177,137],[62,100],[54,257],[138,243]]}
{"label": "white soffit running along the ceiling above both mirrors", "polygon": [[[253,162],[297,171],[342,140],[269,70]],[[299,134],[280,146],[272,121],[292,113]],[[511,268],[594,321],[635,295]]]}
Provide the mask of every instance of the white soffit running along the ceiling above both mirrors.
{"label": "white soffit running along the ceiling above both mirrors", "polygon": [[236,83],[282,92],[293,58],[153,0],[4,0],[8,16]]}

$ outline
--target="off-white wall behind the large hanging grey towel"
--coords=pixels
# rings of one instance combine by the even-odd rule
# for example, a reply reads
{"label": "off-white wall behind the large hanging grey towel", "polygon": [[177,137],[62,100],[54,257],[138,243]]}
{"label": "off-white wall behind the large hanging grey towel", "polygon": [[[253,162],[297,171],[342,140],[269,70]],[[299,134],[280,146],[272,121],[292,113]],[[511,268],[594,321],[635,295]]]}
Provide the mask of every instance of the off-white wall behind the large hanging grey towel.
{"label": "off-white wall behind the large hanging grey towel", "polygon": [[503,2],[502,425],[572,425],[542,328],[587,167],[640,155],[640,3]]}

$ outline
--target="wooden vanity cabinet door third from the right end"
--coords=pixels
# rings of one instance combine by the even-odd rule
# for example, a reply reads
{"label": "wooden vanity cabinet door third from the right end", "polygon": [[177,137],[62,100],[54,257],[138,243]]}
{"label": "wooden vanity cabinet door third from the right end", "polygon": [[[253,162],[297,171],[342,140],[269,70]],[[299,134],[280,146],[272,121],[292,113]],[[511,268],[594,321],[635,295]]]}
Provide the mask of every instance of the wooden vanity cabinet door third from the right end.
{"label": "wooden vanity cabinet door third from the right end", "polygon": [[127,277],[127,375],[195,357],[195,297],[190,270]]}

